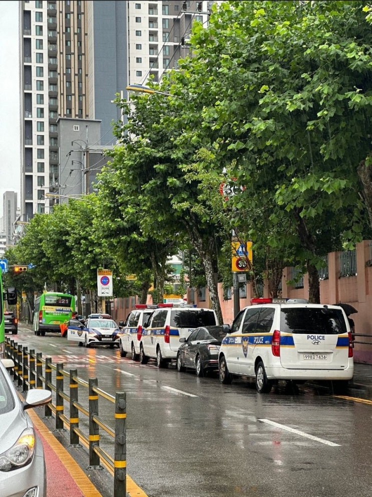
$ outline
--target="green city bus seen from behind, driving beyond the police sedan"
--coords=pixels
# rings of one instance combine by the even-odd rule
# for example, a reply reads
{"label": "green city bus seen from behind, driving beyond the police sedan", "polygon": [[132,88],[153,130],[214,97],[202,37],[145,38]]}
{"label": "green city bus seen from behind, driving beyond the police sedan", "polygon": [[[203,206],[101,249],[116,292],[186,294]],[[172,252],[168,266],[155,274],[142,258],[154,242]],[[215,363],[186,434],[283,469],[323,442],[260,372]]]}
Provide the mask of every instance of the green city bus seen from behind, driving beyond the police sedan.
{"label": "green city bus seen from behind, driving beyond the police sedan", "polygon": [[75,296],[69,293],[44,292],[35,299],[33,328],[38,337],[46,332],[60,333],[60,325],[72,318]]}

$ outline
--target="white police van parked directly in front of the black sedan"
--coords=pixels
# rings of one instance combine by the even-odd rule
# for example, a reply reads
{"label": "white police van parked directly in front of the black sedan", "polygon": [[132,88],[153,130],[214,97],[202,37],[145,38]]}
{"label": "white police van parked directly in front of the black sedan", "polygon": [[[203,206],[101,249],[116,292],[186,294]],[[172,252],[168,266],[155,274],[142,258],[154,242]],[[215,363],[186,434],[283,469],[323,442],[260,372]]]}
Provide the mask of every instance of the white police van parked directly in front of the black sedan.
{"label": "white police van parked directly in front of the black sedan", "polygon": [[166,366],[176,360],[181,337],[187,339],[199,326],[219,324],[212,309],[177,307],[174,304],[159,304],[158,307],[142,331],[141,364],[147,364],[149,359],[156,359],[159,368]]}

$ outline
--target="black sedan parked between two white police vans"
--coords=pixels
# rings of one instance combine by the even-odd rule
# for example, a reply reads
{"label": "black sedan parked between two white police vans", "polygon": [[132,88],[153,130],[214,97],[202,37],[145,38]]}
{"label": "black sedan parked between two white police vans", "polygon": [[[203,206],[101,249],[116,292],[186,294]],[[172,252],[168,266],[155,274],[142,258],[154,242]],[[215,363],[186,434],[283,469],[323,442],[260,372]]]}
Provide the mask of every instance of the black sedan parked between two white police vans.
{"label": "black sedan parked between two white police vans", "polygon": [[195,369],[197,376],[218,370],[218,353],[225,336],[222,326],[200,326],[187,339],[180,338],[177,370]]}

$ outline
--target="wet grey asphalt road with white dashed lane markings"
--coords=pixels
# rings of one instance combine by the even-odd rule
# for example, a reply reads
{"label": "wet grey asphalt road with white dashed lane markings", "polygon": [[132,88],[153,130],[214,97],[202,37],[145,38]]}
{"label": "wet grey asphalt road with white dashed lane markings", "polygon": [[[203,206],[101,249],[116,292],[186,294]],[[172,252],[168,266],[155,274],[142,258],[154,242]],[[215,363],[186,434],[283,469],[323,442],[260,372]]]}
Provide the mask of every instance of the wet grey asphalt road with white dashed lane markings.
{"label": "wet grey asphalt road with white dashed lane markings", "polygon": [[[126,392],[127,472],[150,497],[372,496],[370,403],[309,386],[258,395],[248,381],[220,385],[217,375],[159,370],[22,326],[16,340],[112,395]],[[100,416],[112,413],[100,403]],[[86,452],[76,453],[83,465]],[[112,477],[98,479],[113,495]]]}

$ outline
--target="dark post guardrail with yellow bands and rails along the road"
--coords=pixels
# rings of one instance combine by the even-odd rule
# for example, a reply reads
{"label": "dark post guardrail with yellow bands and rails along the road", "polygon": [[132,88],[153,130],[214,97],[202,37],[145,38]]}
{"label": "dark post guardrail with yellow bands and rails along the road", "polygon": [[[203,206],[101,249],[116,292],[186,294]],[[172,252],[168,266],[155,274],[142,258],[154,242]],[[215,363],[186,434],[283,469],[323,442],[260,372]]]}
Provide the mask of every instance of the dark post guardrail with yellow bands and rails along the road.
{"label": "dark post guardrail with yellow bands and rails along the road", "polygon": [[[97,378],[88,381],[78,376],[77,369],[66,371],[63,363],[53,364],[50,357],[43,358],[41,352],[28,350],[14,340],[6,338],[7,359],[13,359],[15,367],[11,371],[13,381],[24,392],[32,388],[45,388],[54,392],[55,403],[45,406],[45,417],[56,418],[56,430],[68,426],[71,446],[79,447],[82,442],[89,449],[89,466],[87,469],[102,469],[102,464],[114,476],[113,497],[126,495],[127,461],[126,461],[126,418],[127,401],[125,392],[117,392],[115,397],[98,387]],[[44,374],[43,374],[44,367]],[[55,372],[53,383],[52,372]],[[69,389],[64,389],[64,379],[69,380]],[[79,387],[88,393],[88,407],[79,402]],[[99,416],[99,399],[106,399],[115,404],[115,427],[112,428]],[[65,414],[65,401],[69,406],[69,416]],[[89,420],[89,434],[79,427],[79,413]],[[114,439],[114,457],[100,447],[100,428]]]}

